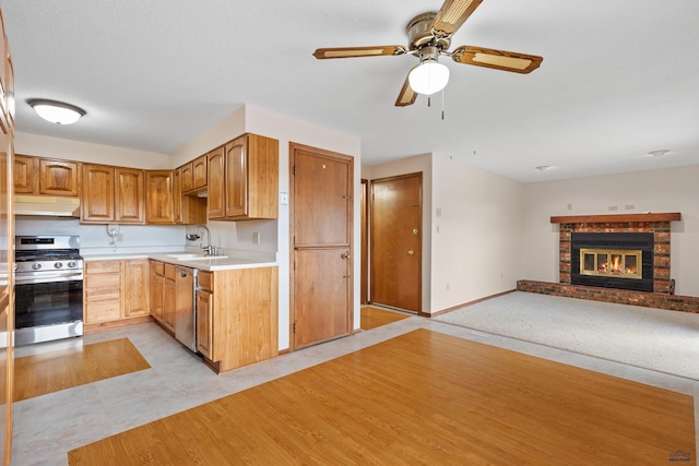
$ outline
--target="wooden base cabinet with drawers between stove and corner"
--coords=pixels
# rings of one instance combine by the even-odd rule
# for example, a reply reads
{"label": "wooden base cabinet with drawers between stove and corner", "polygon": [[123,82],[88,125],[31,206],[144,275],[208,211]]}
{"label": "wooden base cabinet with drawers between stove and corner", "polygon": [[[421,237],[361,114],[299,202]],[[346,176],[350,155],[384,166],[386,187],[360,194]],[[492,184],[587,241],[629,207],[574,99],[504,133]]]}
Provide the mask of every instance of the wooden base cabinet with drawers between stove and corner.
{"label": "wooden base cabinet with drawers between stove and corner", "polygon": [[150,320],[147,259],[86,261],[84,274],[85,332]]}

